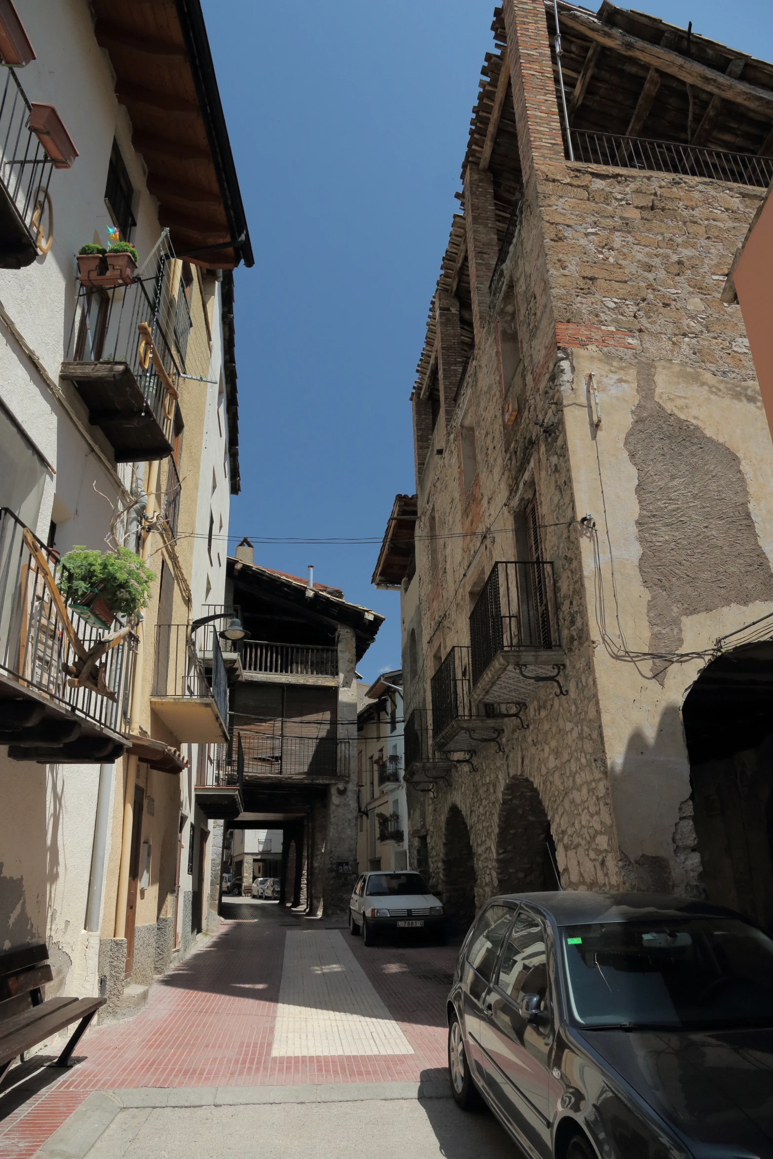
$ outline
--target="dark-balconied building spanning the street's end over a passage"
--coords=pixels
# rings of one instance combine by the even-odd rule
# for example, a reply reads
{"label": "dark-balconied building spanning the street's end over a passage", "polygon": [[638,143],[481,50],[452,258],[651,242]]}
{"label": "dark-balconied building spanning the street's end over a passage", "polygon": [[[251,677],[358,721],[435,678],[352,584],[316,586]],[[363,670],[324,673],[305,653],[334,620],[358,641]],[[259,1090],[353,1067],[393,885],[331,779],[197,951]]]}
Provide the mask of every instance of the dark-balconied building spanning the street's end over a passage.
{"label": "dark-balconied building spanning the street's end over a passage", "polygon": [[[315,583],[312,569],[304,581],[261,567],[249,540],[227,560],[226,600],[249,635],[231,657],[228,744],[195,788],[213,851],[224,826],[279,829],[279,901],[343,912],[357,879],[356,664],[384,618]],[[235,838],[232,847],[235,860]],[[245,865],[243,894],[251,880]],[[216,912],[220,889],[213,855]]]}

